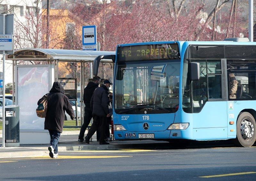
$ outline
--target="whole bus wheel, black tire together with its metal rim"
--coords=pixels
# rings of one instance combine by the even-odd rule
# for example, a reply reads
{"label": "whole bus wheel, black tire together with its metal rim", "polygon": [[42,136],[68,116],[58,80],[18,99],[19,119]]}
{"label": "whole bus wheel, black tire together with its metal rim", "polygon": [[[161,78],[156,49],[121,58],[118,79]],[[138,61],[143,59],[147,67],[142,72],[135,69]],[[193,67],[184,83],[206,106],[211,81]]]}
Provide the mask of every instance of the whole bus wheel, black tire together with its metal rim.
{"label": "whole bus wheel, black tire together with its metal rim", "polygon": [[236,139],[233,140],[237,146],[250,147],[256,139],[255,119],[249,112],[241,112],[236,121]]}

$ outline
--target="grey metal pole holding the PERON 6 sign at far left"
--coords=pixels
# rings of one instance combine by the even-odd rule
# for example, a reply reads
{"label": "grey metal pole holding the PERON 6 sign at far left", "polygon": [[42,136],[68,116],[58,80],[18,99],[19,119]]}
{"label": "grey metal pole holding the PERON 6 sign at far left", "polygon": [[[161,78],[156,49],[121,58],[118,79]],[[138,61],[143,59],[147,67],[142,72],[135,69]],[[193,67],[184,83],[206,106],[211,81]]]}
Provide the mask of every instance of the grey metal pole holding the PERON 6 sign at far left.
{"label": "grey metal pole holding the PERON 6 sign at far left", "polygon": [[[5,16],[3,16],[3,34],[5,34]],[[5,147],[5,85],[4,85],[4,79],[5,79],[5,74],[4,74],[4,69],[5,69],[5,51],[3,51],[3,136],[2,136],[2,147]]]}

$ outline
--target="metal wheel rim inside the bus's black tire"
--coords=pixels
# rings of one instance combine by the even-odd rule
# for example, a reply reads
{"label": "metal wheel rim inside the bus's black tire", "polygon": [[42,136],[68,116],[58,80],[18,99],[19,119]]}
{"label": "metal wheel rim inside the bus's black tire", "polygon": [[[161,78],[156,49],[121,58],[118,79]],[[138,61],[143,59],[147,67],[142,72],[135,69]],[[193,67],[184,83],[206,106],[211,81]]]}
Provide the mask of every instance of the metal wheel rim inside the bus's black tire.
{"label": "metal wheel rim inside the bus's black tire", "polygon": [[245,141],[251,139],[254,134],[254,126],[249,119],[244,119],[240,125],[241,136]]}

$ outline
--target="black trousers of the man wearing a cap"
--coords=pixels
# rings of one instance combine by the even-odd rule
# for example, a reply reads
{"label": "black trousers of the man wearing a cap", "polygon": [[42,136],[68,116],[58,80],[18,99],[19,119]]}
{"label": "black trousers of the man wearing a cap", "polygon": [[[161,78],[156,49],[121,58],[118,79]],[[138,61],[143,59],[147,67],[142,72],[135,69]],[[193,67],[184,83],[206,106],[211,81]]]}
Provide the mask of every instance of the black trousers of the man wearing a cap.
{"label": "black trousers of the man wearing a cap", "polygon": [[93,123],[92,126],[87,134],[87,136],[89,138],[92,137],[92,135],[98,130],[100,130],[100,143],[105,142],[105,130],[106,130],[106,124],[107,124],[107,117],[103,117],[103,116],[97,116],[97,115],[93,115]]}

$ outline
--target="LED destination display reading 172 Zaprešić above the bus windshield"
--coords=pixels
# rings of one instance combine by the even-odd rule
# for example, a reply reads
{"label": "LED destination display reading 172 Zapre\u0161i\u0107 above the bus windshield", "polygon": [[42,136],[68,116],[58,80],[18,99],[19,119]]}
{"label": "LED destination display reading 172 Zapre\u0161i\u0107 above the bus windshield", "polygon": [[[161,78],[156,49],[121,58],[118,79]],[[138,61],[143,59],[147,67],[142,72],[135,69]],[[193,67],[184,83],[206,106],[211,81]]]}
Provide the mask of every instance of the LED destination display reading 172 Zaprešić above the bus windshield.
{"label": "LED destination display reading 172 Zapre\u0161i\u0107 above the bus windshield", "polygon": [[117,48],[117,61],[180,59],[178,44],[136,45]]}

